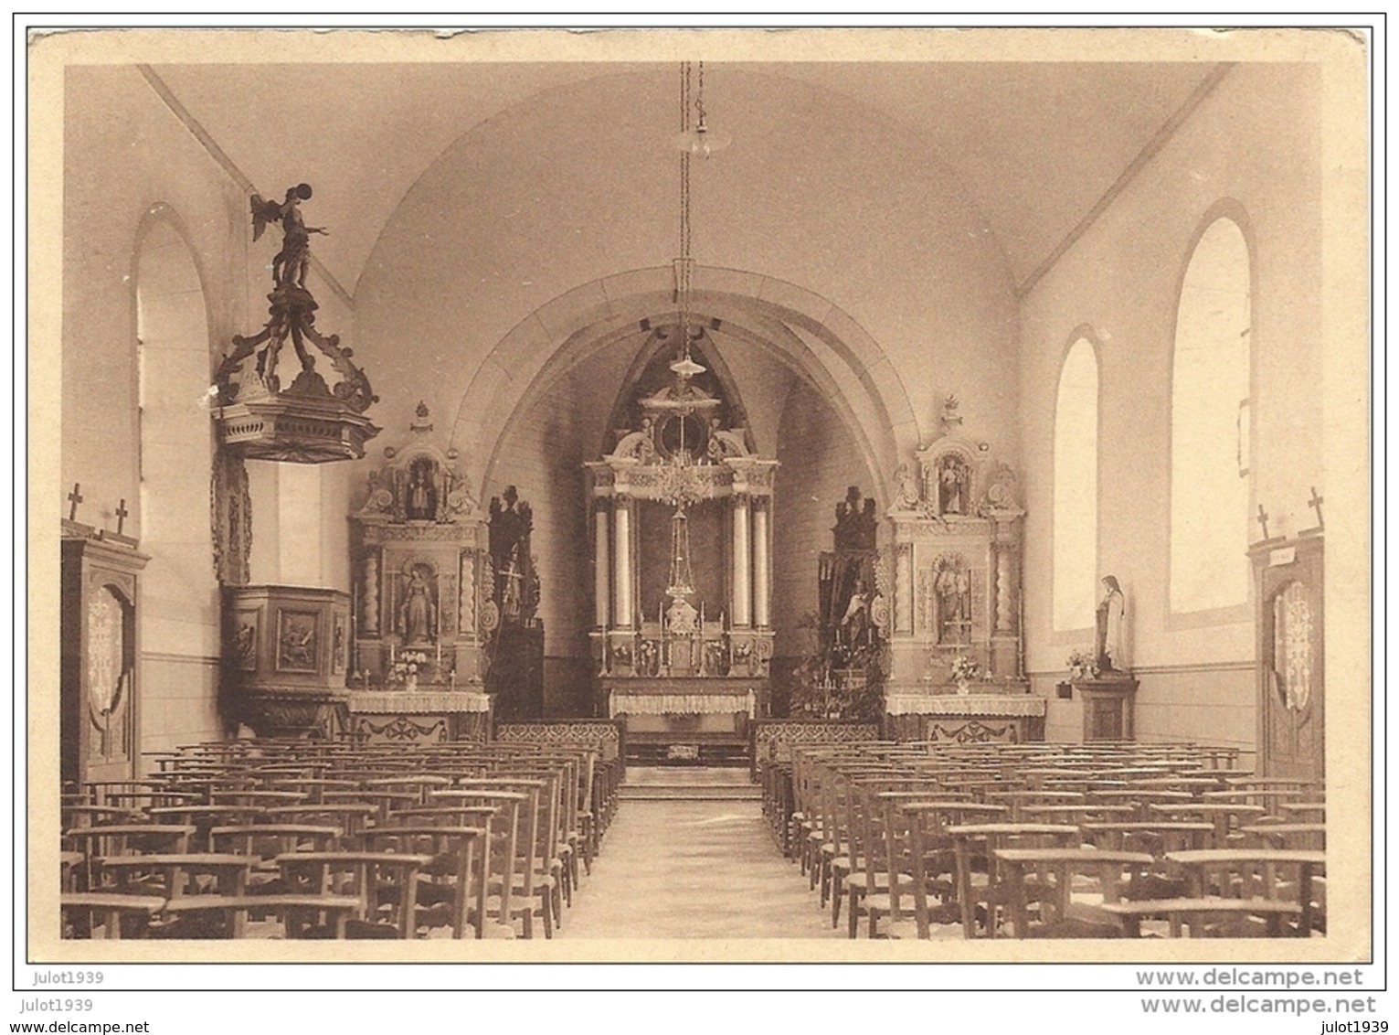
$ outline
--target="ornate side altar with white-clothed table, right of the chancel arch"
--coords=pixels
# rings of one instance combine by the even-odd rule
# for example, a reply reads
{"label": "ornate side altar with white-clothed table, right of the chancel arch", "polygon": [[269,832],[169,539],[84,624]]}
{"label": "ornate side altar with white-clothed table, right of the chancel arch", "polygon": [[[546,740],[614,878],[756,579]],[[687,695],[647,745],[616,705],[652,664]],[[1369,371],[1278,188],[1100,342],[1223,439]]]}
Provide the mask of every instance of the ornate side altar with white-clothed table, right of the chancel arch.
{"label": "ornate side altar with white-clothed table, right of the chancel arch", "polygon": [[1009,465],[961,430],[901,464],[893,524],[893,618],[884,732],[901,741],[1039,741],[1045,700],[1024,678],[1025,511]]}

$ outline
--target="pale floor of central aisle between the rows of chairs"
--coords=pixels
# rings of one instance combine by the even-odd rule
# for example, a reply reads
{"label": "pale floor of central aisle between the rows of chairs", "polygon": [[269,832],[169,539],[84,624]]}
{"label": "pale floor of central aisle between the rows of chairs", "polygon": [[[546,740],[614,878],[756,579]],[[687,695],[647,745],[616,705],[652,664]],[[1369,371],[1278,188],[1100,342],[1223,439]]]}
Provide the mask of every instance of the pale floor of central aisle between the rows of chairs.
{"label": "pale floor of central aisle between the rows of chairs", "polygon": [[624,800],[560,938],[838,938],[758,801]]}

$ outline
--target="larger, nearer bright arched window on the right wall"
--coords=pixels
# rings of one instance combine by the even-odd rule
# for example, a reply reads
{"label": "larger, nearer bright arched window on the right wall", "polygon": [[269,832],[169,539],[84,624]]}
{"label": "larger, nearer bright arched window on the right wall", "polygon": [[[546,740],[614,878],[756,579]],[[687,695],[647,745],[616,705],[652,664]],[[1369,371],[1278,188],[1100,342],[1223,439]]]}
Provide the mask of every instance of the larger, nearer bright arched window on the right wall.
{"label": "larger, nearer bright arched window on the right wall", "polygon": [[1217,218],[1181,283],[1171,377],[1171,611],[1248,602],[1248,242]]}

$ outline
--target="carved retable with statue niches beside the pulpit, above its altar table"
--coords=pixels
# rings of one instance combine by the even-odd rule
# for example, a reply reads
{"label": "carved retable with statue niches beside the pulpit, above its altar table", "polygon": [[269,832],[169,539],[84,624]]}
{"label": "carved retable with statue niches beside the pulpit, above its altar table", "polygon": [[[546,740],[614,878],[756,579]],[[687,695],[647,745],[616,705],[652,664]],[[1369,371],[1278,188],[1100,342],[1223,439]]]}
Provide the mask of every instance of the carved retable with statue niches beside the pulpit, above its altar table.
{"label": "carved retable with statue niches beside the pulpit, above its altar table", "polygon": [[353,657],[347,682],[365,689],[402,682],[403,651],[422,686],[480,683],[483,644],[499,613],[484,517],[457,469],[456,450],[432,440],[418,403],[409,440],[383,451],[351,515]]}

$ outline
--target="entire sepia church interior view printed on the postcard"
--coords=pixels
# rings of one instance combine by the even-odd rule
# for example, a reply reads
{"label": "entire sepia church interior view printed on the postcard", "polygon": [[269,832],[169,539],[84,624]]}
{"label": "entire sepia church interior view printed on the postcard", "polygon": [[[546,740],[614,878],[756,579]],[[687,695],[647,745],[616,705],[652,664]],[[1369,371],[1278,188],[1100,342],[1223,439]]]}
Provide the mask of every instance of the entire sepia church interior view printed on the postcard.
{"label": "entire sepia church interior view printed on the postcard", "polygon": [[302,45],[63,70],[62,938],[1326,944],[1353,80]]}

